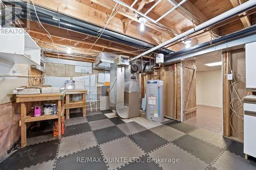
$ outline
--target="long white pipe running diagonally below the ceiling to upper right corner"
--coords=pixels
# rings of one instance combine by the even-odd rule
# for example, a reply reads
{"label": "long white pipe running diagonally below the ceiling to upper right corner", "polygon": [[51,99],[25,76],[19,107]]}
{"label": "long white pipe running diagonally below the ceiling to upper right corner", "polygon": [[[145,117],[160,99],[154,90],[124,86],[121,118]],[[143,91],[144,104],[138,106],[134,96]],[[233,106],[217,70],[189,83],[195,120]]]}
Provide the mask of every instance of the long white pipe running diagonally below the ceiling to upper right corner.
{"label": "long white pipe running diagonally below the ceiling to upper right corner", "polygon": [[149,54],[151,52],[154,52],[154,51],[158,50],[159,48],[162,48],[162,47],[164,47],[164,46],[166,46],[166,45],[168,45],[170,43],[173,43],[173,42],[178,41],[178,40],[180,40],[180,39],[182,39],[182,38],[184,38],[184,37],[186,37],[188,35],[191,35],[191,34],[193,34],[195,32],[198,32],[198,31],[201,31],[201,30],[203,30],[205,28],[208,28],[212,24],[214,24],[214,23],[216,23],[216,22],[218,22],[220,20],[223,20],[223,19],[225,19],[225,18],[227,18],[227,17],[229,17],[231,15],[234,15],[234,14],[237,14],[239,12],[242,12],[243,10],[245,10],[245,9],[251,7],[251,6],[254,6],[254,5],[256,5],[256,1],[255,0],[247,1],[246,3],[243,3],[243,4],[241,4],[241,5],[237,6],[237,7],[234,7],[232,9],[228,10],[227,12],[224,12],[224,13],[222,13],[222,14],[220,14],[220,15],[218,15],[218,16],[216,16],[216,17],[214,17],[214,18],[212,18],[212,19],[210,19],[210,20],[208,20],[208,21],[206,21],[204,23],[201,23],[199,26],[196,26],[195,28],[192,28],[192,29],[190,29],[190,30],[180,34],[180,35],[177,35],[176,37],[174,37],[172,39],[169,39],[169,40],[165,41],[162,44],[159,44],[159,45],[151,48],[150,50],[148,50],[148,51],[146,51],[146,52],[144,52],[144,53],[142,53],[142,54],[132,58],[130,61],[134,61],[134,60],[140,58],[141,56],[144,56],[144,55],[147,55],[147,54]]}

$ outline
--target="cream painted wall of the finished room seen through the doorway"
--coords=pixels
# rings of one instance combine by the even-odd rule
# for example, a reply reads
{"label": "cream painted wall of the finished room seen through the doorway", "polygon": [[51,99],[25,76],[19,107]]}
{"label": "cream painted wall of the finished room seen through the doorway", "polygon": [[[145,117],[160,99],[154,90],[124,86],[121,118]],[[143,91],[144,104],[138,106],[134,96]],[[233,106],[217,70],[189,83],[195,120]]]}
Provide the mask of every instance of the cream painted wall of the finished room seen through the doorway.
{"label": "cream painted wall of the finished room seen through the doorway", "polygon": [[221,107],[221,69],[197,71],[197,105]]}

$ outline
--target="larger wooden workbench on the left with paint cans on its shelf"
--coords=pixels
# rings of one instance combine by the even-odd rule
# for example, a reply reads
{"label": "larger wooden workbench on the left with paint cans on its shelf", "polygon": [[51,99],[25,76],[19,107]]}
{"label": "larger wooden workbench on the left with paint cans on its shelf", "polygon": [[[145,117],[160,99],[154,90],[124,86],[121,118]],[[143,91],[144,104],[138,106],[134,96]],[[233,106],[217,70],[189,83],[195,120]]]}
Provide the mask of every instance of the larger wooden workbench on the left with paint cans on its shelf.
{"label": "larger wooden workbench on the left with paint cans on its shelf", "polygon": [[[27,127],[26,123],[37,122],[40,120],[58,119],[58,138],[61,139],[61,118],[64,115],[65,105],[64,97],[65,91],[61,93],[48,93],[48,94],[17,94],[16,102],[21,104],[21,136],[22,147],[27,145]],[[41,101],[57,101],[57,115],[41,115],[38,117],[31,117],[27,115],[27,102],[41,102]]]}

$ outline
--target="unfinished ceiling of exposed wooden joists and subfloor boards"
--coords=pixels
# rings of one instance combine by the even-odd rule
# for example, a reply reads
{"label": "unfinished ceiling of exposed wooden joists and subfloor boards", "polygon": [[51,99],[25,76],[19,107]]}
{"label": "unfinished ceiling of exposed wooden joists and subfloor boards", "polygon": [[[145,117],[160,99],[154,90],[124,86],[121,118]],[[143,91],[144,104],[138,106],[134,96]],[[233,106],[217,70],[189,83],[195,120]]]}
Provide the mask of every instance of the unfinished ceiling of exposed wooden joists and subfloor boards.
{"label": "unfinished ceiling of exposed wooden joists and subfloor boards", "polygon": [[[29,0],[26,0],[25,2],[30,3]],[[105,29],[114,31],[118,34],[123,34],[125,36],[129,36],[153,45],[159,45],[167,41],[168,39],[171,39],[195,26],[198,26],[200,25],[200,23],[207,21],[217,15],[220,15],[246,1],[183,1],[183,4],[181,6],[167,14],[158,22],[154,23],[147,20],[147,22],[145,23],[144,32],[140,31],[140,23],[138,21],[139,15],[133,10],[123,5],[117,4],[115,1],[34,0],[33,2],[36,6],[44,7],[46,9],[56,11],[64,15],[68,15],[76,19],[92,23],[102,28],[105,27]],[[147,12],[146,16],[153,20],[157,20],[167,11],[172,9],[174,7],[174,4],[182,3],[181,0],[123,0],[122,2],[129,6],[133,4],[133,9],[143,14]],[[153,6],[154,8],[152,8]],[[229,19],[228,21],[230,22],[221,22],[217,25],[217,29],[215,29],[214,27],[211,28],[211,31],[204,30],[206,31],[205,33],[204,31],[201,31],[199,35],[193,36],[191,38],[191,46],[198,45],[206,41],[211,41],[219,36],[223,36],[249,27],[254,23],[254,12],[255,9],[252,9],[248,13],[244,14],[244,17],[243,15],[240,15]],[[249,15],[247,16],[247,14]],[[109,20],[111,15],[111,20]],[[107,25],[106,22],[108,22]],[[124,45],[122,43],[103,39],[101,37],[99,39],[98,37],[93,36],[90,38],[86,38],[90,35],[82,35],[76,33],[78,36],[86,38],[81,40],[81,38],[69,36],[69,32],[72,33],[71,30],[51,27],[49,25],[45,25],[45,27],[47,27],[49,29],[49,33],[53,35],[53,39],[55,38],[54,43],[56,44],[56,46],[58,46],[60,52],[61,48],[65,49],[65,47],[71,47],[74,49],[75,54],[61,54],[60,56],[58,55],[58,57],[61,58],[94,62],[93,57],[97,56],[97,54],[100,52],[124,54],[130,57],[134,57],[145,50],[144,48],[135,48],[129,45]],[[32,30],[32,32],[29,32],[32,37],[35,36],[34,38],[39,39],[37,41],[38,45],[41,44],[39,43],[40,40],[44,40],[45,42],[51,41],[51,39],[47,36],[46,31],[34,21],[31,21],[28,30]],[[39,35],[39,33],[41,35]],[[65,40],[62,40],[63,38],[65,38]],[[52,45],[50,50],[47,49],[50,48],[49,45],[47,47],[41,45],[41,47],[45,49],[46,55],[48,55],[49,57],[56,57],[57,52],[54,45]],[[184,48],[185,44],[183,42],[176,42],[167,46],[168,50],[174,52],[180,51]],[[50,52],[51,55],[48,54]],[[80,53],[80,55],[77,55],[78,53]]]}

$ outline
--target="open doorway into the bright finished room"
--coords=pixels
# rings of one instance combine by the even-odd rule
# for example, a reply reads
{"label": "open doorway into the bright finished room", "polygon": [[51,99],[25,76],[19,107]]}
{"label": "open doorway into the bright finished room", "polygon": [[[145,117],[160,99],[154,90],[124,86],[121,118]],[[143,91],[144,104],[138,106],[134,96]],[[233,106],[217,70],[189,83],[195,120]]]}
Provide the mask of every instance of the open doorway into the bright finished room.
{"label": "open doorway into the bright finished room", "polygon": [[206,54],[193,60],[196,114],[184,122],[222,134],[222,54]]}

